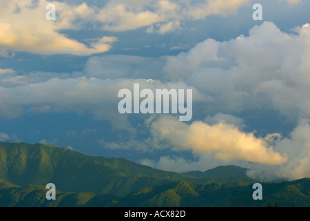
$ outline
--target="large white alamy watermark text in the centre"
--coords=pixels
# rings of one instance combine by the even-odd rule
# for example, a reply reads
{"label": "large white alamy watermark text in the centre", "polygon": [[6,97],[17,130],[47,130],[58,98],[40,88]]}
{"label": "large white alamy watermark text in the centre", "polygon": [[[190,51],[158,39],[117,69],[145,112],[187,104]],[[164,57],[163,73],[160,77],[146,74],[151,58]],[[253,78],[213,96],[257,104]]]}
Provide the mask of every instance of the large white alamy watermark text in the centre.
{"label": "large white alamy watermark text in the centre", "polygon": [[[134,94],[129,89],[121,89],[118,97],[123,98],[118,103],[118,112],[121,114],[131,113],[180,113],[180,121],[189,121],[193,115],[193,90],[186,89],[186,106],[185,106],[185,89],[156,89],[155,93],[151,89],[140,91],[140,85],[134,84]],[[171,97],[171,99],[170,99]],[[140,99],[144,98],[142,102]],[[155,104],[155,106],[154,106]],[[171,104],[171,106],[170,106]],[[132,110],[133,106],[133,110]]]}

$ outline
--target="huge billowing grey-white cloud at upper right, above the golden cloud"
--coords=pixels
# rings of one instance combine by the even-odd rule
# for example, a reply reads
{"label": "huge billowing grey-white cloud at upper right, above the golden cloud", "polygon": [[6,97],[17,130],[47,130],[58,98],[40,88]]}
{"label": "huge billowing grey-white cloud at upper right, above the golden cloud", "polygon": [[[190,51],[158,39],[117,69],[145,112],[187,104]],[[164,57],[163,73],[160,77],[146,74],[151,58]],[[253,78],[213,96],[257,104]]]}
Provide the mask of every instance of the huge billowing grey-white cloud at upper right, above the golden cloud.
{"label": "huge billowing grey-white cloud at upper right, above the golden cloud", "polygon": [[247,37],[207,39],[167,57],[165,79],[184,81],[209,95],[206,109],[211,115],[267,106],[294,121],[310,117],[310,26],[296,30],[288,34],[264,22]]}

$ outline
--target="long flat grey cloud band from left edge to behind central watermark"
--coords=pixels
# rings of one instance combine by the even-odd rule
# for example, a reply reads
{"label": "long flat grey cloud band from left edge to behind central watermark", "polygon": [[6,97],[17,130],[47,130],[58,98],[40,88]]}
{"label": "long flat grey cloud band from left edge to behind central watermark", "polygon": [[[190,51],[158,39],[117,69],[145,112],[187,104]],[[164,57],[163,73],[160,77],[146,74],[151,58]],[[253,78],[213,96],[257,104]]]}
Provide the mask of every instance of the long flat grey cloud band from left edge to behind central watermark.
{"label": "long flat grey cloud band from left edge to behind central watermark", "polygon": [[[161,83],[147,79],[52,78],[23,86],[0,86],[0,115],[18,117],[25,111],[25,106],[30,107],[26,108],[26,113],[90,113],[96,120],[111,122],[114,128],[130,130],[128,115],[118,113],[117,106],[121,99],[117,95],[123,88],[132,90],[134,83],[140,84],[141,90],[190,88],[180,82]],[[205,99],[197,90],[194,89],[193,93],[193,102]]]}

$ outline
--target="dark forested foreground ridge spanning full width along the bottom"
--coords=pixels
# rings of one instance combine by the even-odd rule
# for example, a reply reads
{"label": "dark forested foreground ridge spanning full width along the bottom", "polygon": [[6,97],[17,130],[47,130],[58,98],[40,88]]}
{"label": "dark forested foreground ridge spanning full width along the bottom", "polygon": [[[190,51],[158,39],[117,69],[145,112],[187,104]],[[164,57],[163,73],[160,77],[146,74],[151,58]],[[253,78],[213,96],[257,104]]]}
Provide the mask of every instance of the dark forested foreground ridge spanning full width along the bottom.
{"label": "dark forested foreground ridge spanning full width along the bottom", "polygon": [[266,207],[310,206],[310,179],[262,183],[262,200],[253,200],[252,185],[192,184],[186,181],[147,187],[124,197],[95,193],[56,192],[46,200],[44,186],[20,187],[0,180],[0,207]]}

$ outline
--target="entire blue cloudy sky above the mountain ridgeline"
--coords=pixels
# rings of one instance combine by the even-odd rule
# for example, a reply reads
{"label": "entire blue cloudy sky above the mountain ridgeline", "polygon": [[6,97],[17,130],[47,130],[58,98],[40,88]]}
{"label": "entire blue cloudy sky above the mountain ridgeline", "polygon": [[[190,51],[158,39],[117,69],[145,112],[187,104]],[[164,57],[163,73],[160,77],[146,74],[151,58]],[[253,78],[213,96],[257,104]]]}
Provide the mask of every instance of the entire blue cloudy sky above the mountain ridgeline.
{"label": "entire blue cloudy sky above the mountain ridgeline", "polygon": [[[49,3],[55,20],[46,19]],[[1,1],[0,141],[165,171],[234,164],[260,180],[310,177],[309,8],[308,0]],[[192,89],[192,119],[118,113],[118,91],[134,84]]]}

